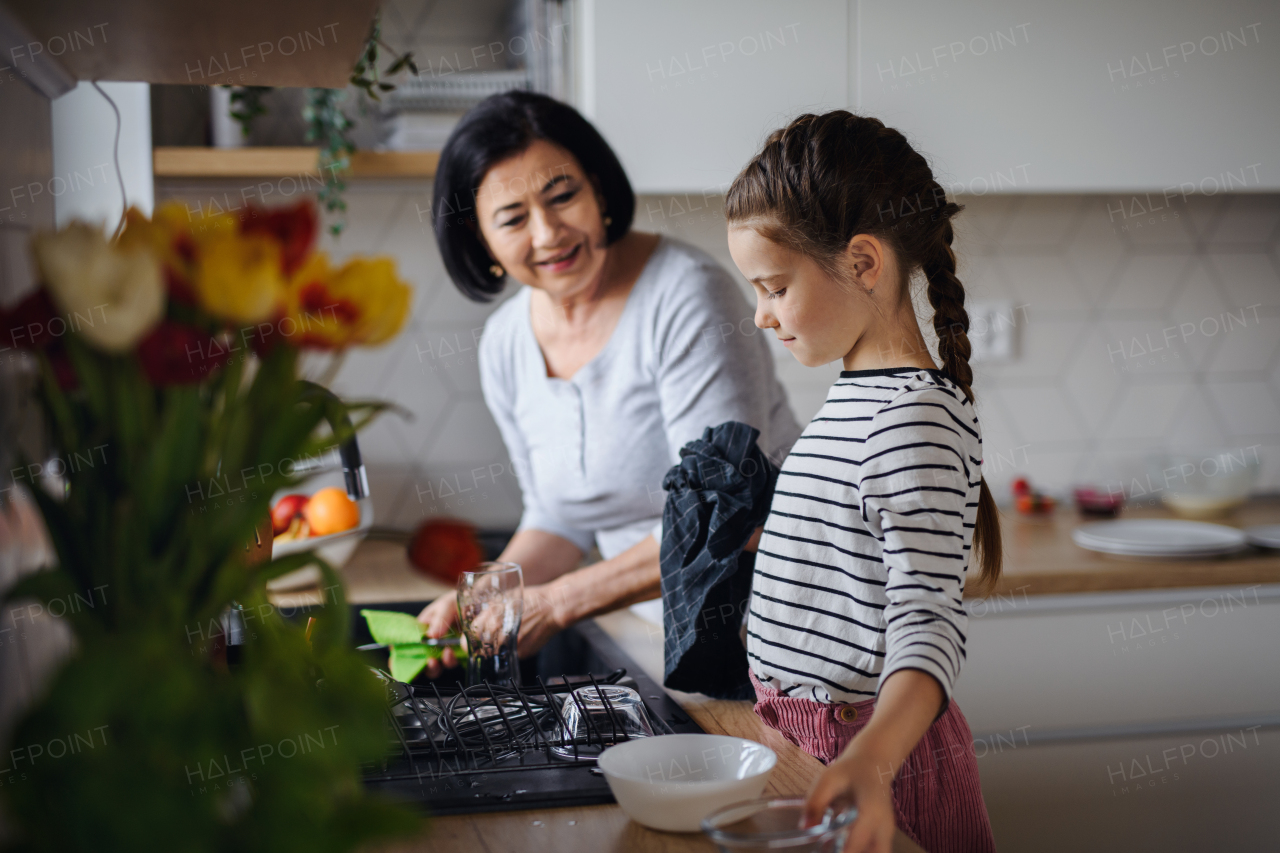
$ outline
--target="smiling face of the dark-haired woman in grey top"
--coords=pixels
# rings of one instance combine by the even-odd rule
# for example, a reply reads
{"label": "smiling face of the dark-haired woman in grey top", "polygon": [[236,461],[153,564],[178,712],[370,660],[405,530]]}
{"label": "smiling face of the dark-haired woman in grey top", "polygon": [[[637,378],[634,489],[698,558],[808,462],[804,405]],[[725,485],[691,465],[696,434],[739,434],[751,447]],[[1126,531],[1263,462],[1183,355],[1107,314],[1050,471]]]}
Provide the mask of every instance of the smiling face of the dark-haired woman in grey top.
{"label": "smiling face of the dark-haired woman in grey top", "polygon": [[568,297],[604,269],[602,201],[577,158],[553,142],[536,140],[489,169],[476,215],[494,260],[524,284]]}

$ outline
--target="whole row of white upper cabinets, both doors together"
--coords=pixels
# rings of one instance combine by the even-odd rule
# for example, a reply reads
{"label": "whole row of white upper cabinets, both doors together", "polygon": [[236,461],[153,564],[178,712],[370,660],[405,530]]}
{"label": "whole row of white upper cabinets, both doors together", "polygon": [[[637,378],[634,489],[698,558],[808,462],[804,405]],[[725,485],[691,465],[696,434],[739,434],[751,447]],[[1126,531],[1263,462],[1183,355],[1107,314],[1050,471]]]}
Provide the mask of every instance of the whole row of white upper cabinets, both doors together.
{"label": "whole row of white upper cabinets, both doors together", "polygon": [[[849,108],[952,192],[1280,190],[1274,0],[580,0],[580,105],[639,192],[727,186]],[[1156,195],[1161,193],[1161,195]]]}

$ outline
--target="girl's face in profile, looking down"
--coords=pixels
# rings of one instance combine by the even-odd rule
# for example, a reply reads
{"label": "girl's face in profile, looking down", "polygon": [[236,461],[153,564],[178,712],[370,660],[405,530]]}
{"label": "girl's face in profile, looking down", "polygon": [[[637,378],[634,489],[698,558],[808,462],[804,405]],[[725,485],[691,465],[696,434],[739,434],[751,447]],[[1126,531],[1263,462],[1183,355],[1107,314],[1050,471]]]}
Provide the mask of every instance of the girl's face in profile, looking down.
{"label": "girl's face in profile, looking down", "polygon": [[[874,238],[870,238],[874,240]],[[877,246],[879,241],[876,241]],[[760,236],[749,227],[728,232],[728,251],[755,289],[755,325],[773,329],[791,355],[806,368],[849,356],[877,316],[870,296],[841,284],[813,259]],[[851,259],[868,284],[867,270]],[[883,278],[883,261],[877,278]]]}

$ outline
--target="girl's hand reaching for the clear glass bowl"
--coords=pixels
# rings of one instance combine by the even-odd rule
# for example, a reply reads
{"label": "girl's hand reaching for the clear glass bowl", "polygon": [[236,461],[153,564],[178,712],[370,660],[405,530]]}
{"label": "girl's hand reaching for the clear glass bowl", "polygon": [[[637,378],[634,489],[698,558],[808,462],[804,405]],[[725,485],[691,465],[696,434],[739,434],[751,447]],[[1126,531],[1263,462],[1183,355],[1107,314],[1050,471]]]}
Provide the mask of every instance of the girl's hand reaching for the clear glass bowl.
{"label": "girl's hand reaching for the clear glass bowl", "polygon": [[805,800],[804,825],[822,821],[823,813],[835,807],[858,807],[858,820],[849,827],[845,853],[891,853],[893,833],[893,790],[890,770],[877,767],[874,761],[846,751],[831,762],[818,777]]}

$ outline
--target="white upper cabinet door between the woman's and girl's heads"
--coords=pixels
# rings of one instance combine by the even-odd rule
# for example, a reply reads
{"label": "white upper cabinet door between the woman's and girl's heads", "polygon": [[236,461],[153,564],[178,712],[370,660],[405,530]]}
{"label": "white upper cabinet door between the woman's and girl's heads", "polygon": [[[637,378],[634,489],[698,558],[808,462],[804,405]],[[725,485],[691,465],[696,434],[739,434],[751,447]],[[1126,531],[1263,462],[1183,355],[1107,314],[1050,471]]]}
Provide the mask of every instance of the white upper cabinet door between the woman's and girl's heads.
{"label": "white upper cabinet door between the woman's and girl's heads", "polygon": [[850,102],[847,0],[582,0],[580,106],[636,192],[723,193],[768,133]]}

